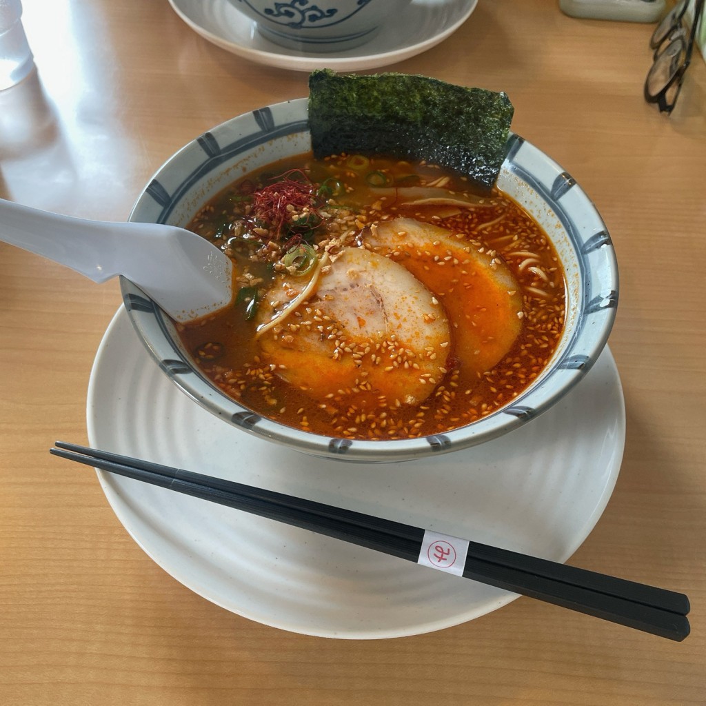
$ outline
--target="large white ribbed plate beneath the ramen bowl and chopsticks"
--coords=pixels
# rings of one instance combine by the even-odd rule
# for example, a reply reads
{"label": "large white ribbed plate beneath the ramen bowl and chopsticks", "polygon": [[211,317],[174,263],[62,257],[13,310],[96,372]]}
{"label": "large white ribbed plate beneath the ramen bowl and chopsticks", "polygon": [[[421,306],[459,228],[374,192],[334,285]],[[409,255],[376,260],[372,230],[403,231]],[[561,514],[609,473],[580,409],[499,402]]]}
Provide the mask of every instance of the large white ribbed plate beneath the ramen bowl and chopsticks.
{"label": "large white ribbed plate beneath the ramen bowl and chopsticks", "polygon": [[[95,448],[566,561],[613,491],[625,406],[606,348],[563,400],[496,441],[407,462],[335,462],[205,411],[158,369],[120,309],[95,359],[88,436]],[[394,638],[457,625],[517,597],[139,481],[99,477],[119,520],[164,570],[269,626]]]}

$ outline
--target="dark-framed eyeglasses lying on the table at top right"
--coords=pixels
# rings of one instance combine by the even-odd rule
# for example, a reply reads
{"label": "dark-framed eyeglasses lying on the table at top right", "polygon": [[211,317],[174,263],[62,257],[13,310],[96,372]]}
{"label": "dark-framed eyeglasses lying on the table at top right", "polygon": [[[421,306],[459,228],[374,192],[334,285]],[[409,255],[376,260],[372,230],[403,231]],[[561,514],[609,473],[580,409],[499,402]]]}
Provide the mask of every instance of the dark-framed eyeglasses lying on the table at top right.
{"label": "dark-framed eyeglasses lying on the table at top right", "polygon": [[691,31],[686,36],[682,20],[690,0],[683,0],[664,16],[650,40],[654,49],[652,68],[645,80],[645,100],[657,103],[659,111],[671,113],[681,90],[684,73],[691,61],[696,29],[703,14],[705,0],[695,0]]}

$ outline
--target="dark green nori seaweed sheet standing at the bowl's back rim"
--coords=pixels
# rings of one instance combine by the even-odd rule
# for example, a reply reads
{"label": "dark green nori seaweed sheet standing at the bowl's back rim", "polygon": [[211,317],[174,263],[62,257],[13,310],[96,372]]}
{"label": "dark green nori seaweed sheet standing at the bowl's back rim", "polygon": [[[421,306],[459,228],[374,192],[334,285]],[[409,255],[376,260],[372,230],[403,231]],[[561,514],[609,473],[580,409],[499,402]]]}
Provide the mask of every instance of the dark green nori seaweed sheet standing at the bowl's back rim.
{"label": "dark green nori seaweed sheet standing at the bowl's back rim", "polygon": [[309,76],[317,158],[340,152],[426,160],[490,189],[505,158],[513,105],[504,92],[407,73]]}

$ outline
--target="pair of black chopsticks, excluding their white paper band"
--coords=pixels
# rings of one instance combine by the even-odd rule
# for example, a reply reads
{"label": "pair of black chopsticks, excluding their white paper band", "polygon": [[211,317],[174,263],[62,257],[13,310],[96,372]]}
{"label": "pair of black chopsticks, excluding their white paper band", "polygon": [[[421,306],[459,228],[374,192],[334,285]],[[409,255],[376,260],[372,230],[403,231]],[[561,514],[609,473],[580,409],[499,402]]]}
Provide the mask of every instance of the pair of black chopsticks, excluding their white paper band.
{"label": "pair of black chopsticks, excluding their white paper band", "polygon": [[[419,527],[76,444],[56,447],[51,453],[68,460],[419,561]],[[689,602],[681,593],[477,542],[468,542],[462,575],[671,640],[689,633]]]}

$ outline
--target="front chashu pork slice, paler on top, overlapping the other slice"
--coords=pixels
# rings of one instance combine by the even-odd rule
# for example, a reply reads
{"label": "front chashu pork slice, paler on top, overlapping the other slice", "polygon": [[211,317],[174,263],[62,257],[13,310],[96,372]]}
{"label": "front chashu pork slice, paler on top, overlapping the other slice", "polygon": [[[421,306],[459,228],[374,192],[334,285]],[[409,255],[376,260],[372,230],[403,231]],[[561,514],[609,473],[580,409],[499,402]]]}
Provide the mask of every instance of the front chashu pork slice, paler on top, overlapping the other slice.
{"label": "front chashu pork slice, paler on top, overlapping the other slice", "polygon": [[[258,313],[273,316],[277,289]],[[315,294],[261,335],[277,375],[321,404],[417,404],[445,374],[449,324],[409,270],[364,248],[323,268]]]}

